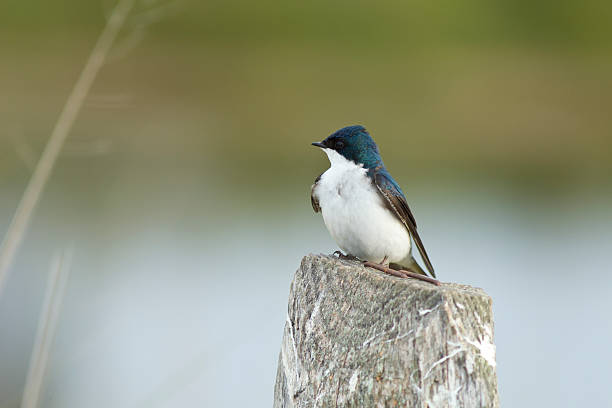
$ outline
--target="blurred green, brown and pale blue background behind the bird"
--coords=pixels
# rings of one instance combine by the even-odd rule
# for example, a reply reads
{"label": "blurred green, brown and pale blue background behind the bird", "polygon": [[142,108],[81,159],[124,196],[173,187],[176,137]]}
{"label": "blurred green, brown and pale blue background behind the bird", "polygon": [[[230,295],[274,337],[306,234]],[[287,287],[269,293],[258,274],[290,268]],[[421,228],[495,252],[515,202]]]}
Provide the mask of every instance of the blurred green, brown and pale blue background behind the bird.
{"label": "blurred green, brown and pale blue background behind the bird", "polygon": [[[114,1],[0,3],[0,231]],[[494,301],[501,401],[605,405],[612,3],[161,1],[130,13],[0,298],[19,406],[269,406],[293,271],[335,245],[310,146],[365,125],[442,280]]]}

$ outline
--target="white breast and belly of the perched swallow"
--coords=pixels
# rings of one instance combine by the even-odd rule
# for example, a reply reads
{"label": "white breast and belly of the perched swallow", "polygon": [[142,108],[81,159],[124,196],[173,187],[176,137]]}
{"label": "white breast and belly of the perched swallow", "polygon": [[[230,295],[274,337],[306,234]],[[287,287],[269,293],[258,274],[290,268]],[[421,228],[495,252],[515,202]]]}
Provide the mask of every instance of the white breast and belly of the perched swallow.
{"label": "white breast and belly of the perched swallow", "polygon": [[410,235],[386,208],[361,165],[324,149],[331,167],[314,191],[323,221],[338,246],[362,260],[401,262],[410,254]]}

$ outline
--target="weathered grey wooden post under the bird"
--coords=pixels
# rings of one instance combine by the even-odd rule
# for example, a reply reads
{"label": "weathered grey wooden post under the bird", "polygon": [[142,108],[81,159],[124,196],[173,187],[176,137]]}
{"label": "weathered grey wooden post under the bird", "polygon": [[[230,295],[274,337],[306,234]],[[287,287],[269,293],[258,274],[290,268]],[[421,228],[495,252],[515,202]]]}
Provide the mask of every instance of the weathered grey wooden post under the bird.
{"label": "weathered grey wooden post under the bird", "polygon": [[498,407],[491,298],[324,255],[289,294],[275,407]]}

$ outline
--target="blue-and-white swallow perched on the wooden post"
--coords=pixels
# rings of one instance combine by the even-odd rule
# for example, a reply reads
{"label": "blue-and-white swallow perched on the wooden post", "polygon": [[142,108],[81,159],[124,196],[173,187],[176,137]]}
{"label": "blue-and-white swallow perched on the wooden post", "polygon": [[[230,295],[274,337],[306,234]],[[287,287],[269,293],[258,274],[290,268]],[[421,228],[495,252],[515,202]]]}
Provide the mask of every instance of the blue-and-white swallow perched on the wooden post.
{"label": "blue-and-white swallow perched on the wooden post", "polygon": [[[387,274],[439,285],[406,196],[365,127],[344,127],[312,145],[321,148],[330,162],[315,179],[310,201],[345,252],[334,254]],[[431,278],[412,256],[411,241]]]}

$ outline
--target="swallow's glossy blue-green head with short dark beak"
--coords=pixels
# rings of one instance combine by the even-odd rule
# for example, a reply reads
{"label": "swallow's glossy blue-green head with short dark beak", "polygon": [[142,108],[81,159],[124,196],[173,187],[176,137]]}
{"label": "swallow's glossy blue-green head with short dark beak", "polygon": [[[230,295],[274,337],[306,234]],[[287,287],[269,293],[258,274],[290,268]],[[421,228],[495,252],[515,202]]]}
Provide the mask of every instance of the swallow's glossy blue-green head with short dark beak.
{"label": "swallow's glossy blue-green head with short dark beak", "polygon": [[323,149],[332,165],[340,155],[346,160],[362,164],[367,169],[382,166],[376,143],[367,130],[360,125],[344,127],[332,133],[322,142],[314,142],[312,145]]}

